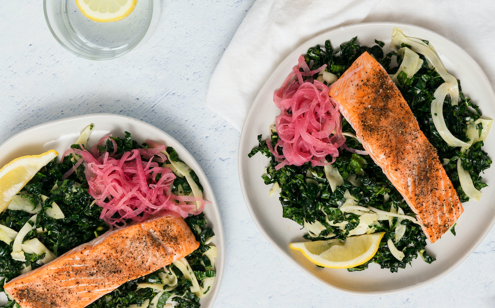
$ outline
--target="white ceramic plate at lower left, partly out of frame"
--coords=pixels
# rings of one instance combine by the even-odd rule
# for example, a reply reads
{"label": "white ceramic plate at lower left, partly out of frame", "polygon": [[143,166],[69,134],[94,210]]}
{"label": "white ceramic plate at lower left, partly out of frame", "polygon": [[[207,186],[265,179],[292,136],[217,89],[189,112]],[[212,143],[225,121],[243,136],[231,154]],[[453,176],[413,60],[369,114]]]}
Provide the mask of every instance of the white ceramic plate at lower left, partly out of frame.
{"label": "white ceramic plate at lower left, partly out of frame", "polygon": [[138,143],[151,139],[173,147],[180,159],[198,176],[203,186],[203,198],[211,202],[205,206],[204,215],[208,226],[211,226],[215,233],[212,244],[218,249],[218,258],[215,261],[215,283],[210,294],[200,300],[201,308],[211,308],[220,289],[224,270],[225,243],[222,220],[213,190],[198,162],[184,146],[169,134],[145,122],[119,115],[93,114],[67,118],[32,127],[9,138],[0,146],[0,166],[14,158],[41,154],[50,149],[56,150],[60,154],[60,159],[63,152],[76,141],[79,134],[90,124],[95,125],[88,142],[90,145],[95,144],[107,133],[112,133],[115,137],[124,137],[124,132],[130,132],[132,139]]}

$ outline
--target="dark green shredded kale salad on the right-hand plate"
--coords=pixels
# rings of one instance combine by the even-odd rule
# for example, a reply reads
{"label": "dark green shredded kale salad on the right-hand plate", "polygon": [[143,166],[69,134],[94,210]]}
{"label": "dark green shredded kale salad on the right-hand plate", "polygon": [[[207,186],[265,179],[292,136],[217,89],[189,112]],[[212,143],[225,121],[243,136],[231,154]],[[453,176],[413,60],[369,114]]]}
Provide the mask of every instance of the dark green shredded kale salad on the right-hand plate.
{"label": "dark green shredded kale salad on the right-hand plate", "polygon": [[[340,50],[335,51],[330,41],[326,41],[324,47],[320,45],[311,47],[303,56],[310,69],[314,70],[327,64],[325,70],[339,77],[359,55],[367,51],[382,64],[389,74],[396,74],[403,60],[401,54],[392,51],[384,55],[382,50],[384,43],[380,41],[375,41],[375,43],[372,47],[362,46],[357,42],[356,37],[348,43],[340,45]],[[425,43],[428,44],[428,42]],[[421,131],[437,148],[440,161],[443,162],[460,201],[466,202],[469,197],[464,193],[459,182],[457,159],[460,157],[463,169],[469,172],[473,184],[478,190],[487,186],[482,181],[480,174],[490,167],[492,161],[482,150],[483,141],[475,142],[468,151],[461,152],[459,147],[448,146],[440,136],[433,123],[430,105],[434,99],[435,89],[444,83],[444,80],[434,68],[429,67],[428,61],[422,54],[419,56],[423,63],[417,73],[408,79],[404,72],[399,72],[397,74],[397,86],[418,120]],[[315,74],[313,78],[317,79],[318,74]],[[460,100],[457,105],[452,106],[449,100],[447,104],[447,99],[445,100],[444,118],[448,130],[455,137],[462,141],[468,141],[467,125],[478,120],[482,113],[479,107],[470,101],[469,97],[462,94],[460,82],[459,95]],[[342,122],[343,133],[355,134],[343,117]],[[481,135],[483,125],[478,124],[476,129]],[[279,137],[274,127],[271,128],[270,138],[272,148],[275,148]],[[400,193],[368,155],[358,155],[342,148],[339,149],[339,156],[332,167],[338,169],[345,182],[337,186],[332,192],[324,167],[312,166],[308,162],[300,167],[286,165],[277,171],[275,166],[278,163],[266,144],[266,138],[258,135],[258,141],[259,146],[254,148],[248,156],[252,157],[257,152],[261,152],[270,158],[270,166],[262,178],[265,184],[274,185],[272,190],[279,189],[283,217],[294,220],[305,227],[308,231],[308,234],[304,236],[305,239],[337,238],[346,240],[349,232],[356,228],[360,222],[359,215],[343,213],[340,210],[349,199],[353,200],[354,205],[371,206],[384,212],[397,213],[400,208],[403,214],[415,217]],[[358,140],[352,137],[347,137],[346,145],[349,148],[364,150]],[[280,147],[278,154],[283,154]],[[327,161],[331,160],[332,158],[328,156]],[[349,268],[349,271],[363,270],[368,268],[369,263],[377,263],[382,268],[389,268],[391,272],[396,272],[398,268],[405,268],[407,264],[411,264],[418,255],[427,263],[435,261],[425,250],[426,236],[418,224],[411,220],[390,217],[386,220],[370,223],[369,228],[373,229],[371,231],[385,232],[380,248],[370,261]],[[451,231],[455,235],[453,227]],[[394,257],[388,248],[387,241],[389,239],[399,239],[395,242],[395,246],[404,254],[401,261]]]}

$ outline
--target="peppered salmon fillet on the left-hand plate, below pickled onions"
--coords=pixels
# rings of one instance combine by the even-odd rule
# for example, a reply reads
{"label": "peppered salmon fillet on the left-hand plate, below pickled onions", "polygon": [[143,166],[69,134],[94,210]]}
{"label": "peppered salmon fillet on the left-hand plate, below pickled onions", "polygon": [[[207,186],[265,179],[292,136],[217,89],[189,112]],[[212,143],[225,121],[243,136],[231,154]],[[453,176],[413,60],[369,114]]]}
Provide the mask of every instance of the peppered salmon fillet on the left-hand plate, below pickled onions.
{"label": "peppered salmon fillet on the left-hand plate, below pickled onions", "polygon": [[12,279],[4,289],[22,308],[82,308],[198,247],[181,217],[155,218],[107,231]]}

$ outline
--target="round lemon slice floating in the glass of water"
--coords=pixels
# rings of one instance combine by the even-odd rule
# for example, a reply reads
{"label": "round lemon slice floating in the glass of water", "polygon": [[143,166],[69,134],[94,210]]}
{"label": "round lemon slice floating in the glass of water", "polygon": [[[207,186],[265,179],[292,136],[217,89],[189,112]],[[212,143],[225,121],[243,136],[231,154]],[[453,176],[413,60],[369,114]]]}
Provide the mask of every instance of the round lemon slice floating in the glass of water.
{"label": "round lemon slice floating in the glass of water", "polygon": [[75,0],[77,7],[93,21],[110,22],[126,18],[138,0]]}

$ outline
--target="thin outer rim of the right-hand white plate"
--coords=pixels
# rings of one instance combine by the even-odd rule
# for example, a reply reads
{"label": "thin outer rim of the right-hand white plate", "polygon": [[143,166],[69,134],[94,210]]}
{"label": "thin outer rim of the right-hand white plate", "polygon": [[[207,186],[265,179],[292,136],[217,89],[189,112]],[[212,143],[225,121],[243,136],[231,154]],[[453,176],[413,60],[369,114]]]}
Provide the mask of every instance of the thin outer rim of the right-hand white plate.
{"label": "thin outer rim of the right-hand white plate", "polygon": [[[253,117],[253,115],[255,114],[255,107],[256,107],[255,105],[256,105],[256,102],[258,100],[260,100],[260,97],[262,96],[262,93],[267,90],[268,85],[270,84],[270,82],[272,81],[272,79],[276,78],[276,76],[280,73],[280,71],[282,70],[282,68],[285,67],[285,65],[286,65],[286,63],[288,61],[291,61],[295,56],[298,55],[298,52],[297,51],[299,49],[301,49],[303,47],[305,47],[307,49],[307,47],[309,47],[309,44],[311,42],[318,40],[319,42],[321,42],[321,43],[318,43],[318,44],[322,45],[322,43],[325,41],[325,39],[328,39],[329,36],[332,35],[332,34],[334,34],[334,33],[338,33],[340,31],[347,31],[348,29],[352,29],[352,28],[360,28],[360,27],[367,27],[367,26],[370,26],[370,27],[373,27],[373,26],[396,26],[398,28],[400,28],[400,27],[406,27],[407,29],[416,29],[416,30],[419,30],[419,31],[428,32],[429,34],[431,34],[433,36],[436,36],[437,38],[445,41],[446,43],[449,43],[452,47],[455,47],[456,49],[458,49],[458,51],[461,51],[472,62],[470,64],[474,65],[476,67],[476,69],[482,73],[481,74],[481,78],[485,82],[487,82],[489,85],[491,85],[491,82],[488,79],[488,76],[483,71],[483,69],[481,68],[481,66],[479,65],[479,63],[472,56],[470,56],[462,47],[460,47],[458,44],[452,42],[448,38],[442,36],[441,34],[435,32],[433,30],[430,30],[430,29],[421,27],[421,26],[417,26],[417,25],[414,25],[414,24],[408,24],[408,23],[400,23],[400,22],[363,22],[363,23],[354,23],[354,24],[344,25],[344,26],[340,26],[340,27],[336,27],[336,28],[333,28],[333,29],[330,29],[330,30],[326,30],[326,31],[320,32],[320,33],[316,34],[315,36],[313,36],[313,37],[309,38],[308,40],[306,40],[304,43],[299,44],[284,59],[282,59],[282,61],[277,65],[277,67],[274,69],[274,71],[272,72],[272,74],[269,76],[268,79],[266,79],[266,81],[264,82],[263,86],[257,92],[257,94],[256,94],[256,96],[255,96],[255,98],[254,98],[251,106],[249,107],[249,111],[247,113],[245,122],[243,124],[242,131],[241,131],[241,137],[240,137],[240,141],[239,141],[239,150],[238,150],[238,172],[239,172],[239,178],[240,178],[240,184],[241,184],[241,190],[242,190],[242,193],[243,193],[243,197],[244,197],[244,200],[246,202],[246,206],[247,206],[248,212],[249,212],[252,220],[256,224],[256,227],[261,232],[261,234],[263,234],[263,236],[268,240],[268,242],[273,247],[275,247],[275,249],[277,249],[286,259],[288,259],[292,264],[296,265],[296,267],[298,269],[300,269],[302,272],[304,272],[305,274],[307,274],[309,277],[313,278],[314,280],[318,281],[319,283],[321,283],[321,284],[323,284],[323,285],[325,285],[325,286],[327,286],[327,287],[329,287],[331,289],[334,289],[336,291],[339,291],[339,292],[342,292],[342,293],[346,293],[346,294],[351,294],[351,295],[380,296],[380,295],[392,295],[392,294],[402,293],[402,292],[411,291],[411,290],[414,290],[414,289],[417,289],[417,288],[421,288],[421,287],[423,287],[425,285],[428,285],[430,283],[433,283],[433,282],[441,279],[442,277],[446,276],[449,272],[451,272],[453,269],[455,269],[459,264],[461,264],[462,262],[464,262],[464,260],[467,259],[467,257],[469,257],[469,255],[471,255],[471,253],[481,244],[481,242],[485,239],[485,237],[487,236],[487,234],[490,232],[490,230],[494,226],[494,224],[495,224],[495,217],[492,218],[490,224],[482,232],[482,235],[479,238],[477,238],[476,241],[473,241],[473,244],[471,245],[471,249],[467,250],[467,252],[465,252],[460,259],[456,260],[446,270],[444,270],[440,274],[437,274],[433,278],[428,279],[428,280],[426,280],[424,282],[413,284],[413,285],[408,286],[408,287],[404,287],[404,288],[396,289],[396,290],[391,290],[391,291],[369,291],[369,292],[366,292],[366,291],[352,291],[352,290],[348,290],[348,289],[345,289],[345,288],[337,287],[335,285],[330,284],[327,281],[324,281],[324,280],[320,279],[318,276],[314,275],[313,273],[311,273],[310,271],[308,271],[306,268],[304,268],[294,258],[292,258],[290,256],[290,254],[288,254],[286,251],[284,251],[282,249],[282,247],[280,247],[278,244],[275,243],[274,239],[262,227],[261,222],[258,220],[257,216],[254,213],[254,209],[252,208],[252,205],[250,204],[250,201],[249,201],[249,196],[248,196],[247,189],[246,189],[245,176],[244,176],[244,172],[243,172],[243,160],[245,159],[244,158],[244,155],[246,154],[245,151],[243,152],[243,150],[244,150],[244,144],[246,144],[246,138],[247,138],[246,135],[247,135],[247,131],[248,131],[248,128],[247,128],[247,126],[248,126],[248,120],[250,120],[250,118]],[[494,88],[492,86],[490,87],[490,91],[491,91],[492,96],[495,96],[495,91],[494,91]],[[267,131],[268,131],[268,128],[267,128]]]}

